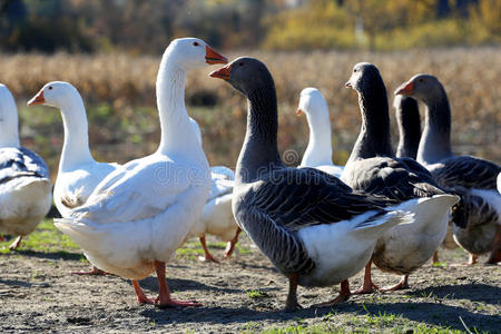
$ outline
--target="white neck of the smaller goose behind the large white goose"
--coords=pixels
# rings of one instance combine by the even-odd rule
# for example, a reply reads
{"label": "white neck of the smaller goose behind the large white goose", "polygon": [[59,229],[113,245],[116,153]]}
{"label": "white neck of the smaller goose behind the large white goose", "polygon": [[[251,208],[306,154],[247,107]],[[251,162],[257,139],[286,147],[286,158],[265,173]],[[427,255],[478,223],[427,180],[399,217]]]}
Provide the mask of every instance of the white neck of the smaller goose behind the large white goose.
{"label": "white neck of the smaller goose behind the large white goose", "polygon": [[62,144],[60,170],[71,170],[77,166],[94,161],[89,150],[87,115],[80,97],[61,106],[65,143]]}

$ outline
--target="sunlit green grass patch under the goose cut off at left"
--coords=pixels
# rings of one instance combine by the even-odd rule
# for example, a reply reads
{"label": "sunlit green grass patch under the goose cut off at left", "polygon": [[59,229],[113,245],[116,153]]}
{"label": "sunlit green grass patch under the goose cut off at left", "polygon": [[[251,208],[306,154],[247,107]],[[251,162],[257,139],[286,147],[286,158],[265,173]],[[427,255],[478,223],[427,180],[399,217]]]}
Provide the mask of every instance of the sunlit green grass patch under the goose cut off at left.
{"label": "sunlit green grass patch under the goose cut off at left", "polygon": [[[16,236],[17,237],[17,236]],[[9,245],[13,238],[0,243],[0,253],[9,253]],[[45,253],[58,253],[62,258],[72,258],[75,254],[72,250],[78,250],[77,244],[73,243],[68,236],[60,233],[52,224],[52,219],[43,219],[37,229],[31,234],[22,238],[21,245],[16,252],[45,252]]]}

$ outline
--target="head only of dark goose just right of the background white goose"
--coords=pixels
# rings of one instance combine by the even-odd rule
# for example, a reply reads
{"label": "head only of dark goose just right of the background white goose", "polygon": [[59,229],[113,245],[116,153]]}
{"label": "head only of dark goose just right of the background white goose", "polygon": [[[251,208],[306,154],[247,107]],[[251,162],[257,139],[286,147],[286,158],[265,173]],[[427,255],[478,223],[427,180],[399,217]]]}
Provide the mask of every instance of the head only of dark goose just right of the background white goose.
{"label": "head only of dark goose just right of the background white goose", "polygon": [[352,76],[345,86],[356,90],[358,94],[367,95],[375,88],[384,87],[380,70],[370,62],[358,62],[353,67]]}

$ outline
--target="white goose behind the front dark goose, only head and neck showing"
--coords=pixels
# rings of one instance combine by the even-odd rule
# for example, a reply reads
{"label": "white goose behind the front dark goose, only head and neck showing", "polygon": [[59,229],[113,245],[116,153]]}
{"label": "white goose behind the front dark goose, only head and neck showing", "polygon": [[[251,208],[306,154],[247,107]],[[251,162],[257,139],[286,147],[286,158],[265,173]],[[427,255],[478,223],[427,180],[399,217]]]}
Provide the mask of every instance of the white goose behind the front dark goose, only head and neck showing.
{"label": "white goose behind the front dark goose, only head and neck showing", "polygon": [[324,96],[313,87],[301,91],[296,115],[306,115],[310,127],[310,141],[299,167],[314,167],[336,177],[343,167],[332,163],[331,119]]}

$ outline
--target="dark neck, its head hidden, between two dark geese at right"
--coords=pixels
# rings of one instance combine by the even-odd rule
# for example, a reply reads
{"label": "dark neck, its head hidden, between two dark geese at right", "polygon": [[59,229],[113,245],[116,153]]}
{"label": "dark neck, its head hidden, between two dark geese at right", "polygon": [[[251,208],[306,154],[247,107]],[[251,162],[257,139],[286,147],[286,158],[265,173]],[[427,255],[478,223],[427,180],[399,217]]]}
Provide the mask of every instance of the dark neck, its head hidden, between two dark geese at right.
{"label": "dark neck, its head hidden, between two dark geese at right", "polygon": [[[416,104],[414,101],[414,104]],[[418,107],[418,105],[415,105]],[[399,125],[399,146],[397,157],[407,157],[416,159],[418,148],[421,140],[421,119],[418,108],[401,106],[396,111]]]}

